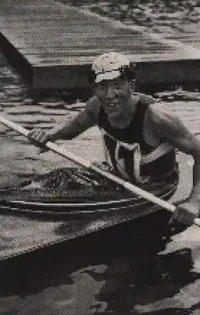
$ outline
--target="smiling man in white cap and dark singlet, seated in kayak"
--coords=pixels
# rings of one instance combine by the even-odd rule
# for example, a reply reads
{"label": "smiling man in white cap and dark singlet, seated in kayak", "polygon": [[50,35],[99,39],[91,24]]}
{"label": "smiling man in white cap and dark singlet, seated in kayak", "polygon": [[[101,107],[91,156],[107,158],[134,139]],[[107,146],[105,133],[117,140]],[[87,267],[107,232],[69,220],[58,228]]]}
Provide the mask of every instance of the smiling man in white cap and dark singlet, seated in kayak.
{"label": "smiling man in white cap and dark singlet, seated in kayak", "polygon": [[143,187],[178,182],[176,152],[194,157],[194,185],[174,220],[190,225],[200,209],[200,143],[170,109],[151,96],[135,94],[134,69],[125,55],[109,52],[92,64],[94,96],[73,121],[49,130],[31,130],[31,142],[73,139],[98,125],[107,160],[115,174]]}

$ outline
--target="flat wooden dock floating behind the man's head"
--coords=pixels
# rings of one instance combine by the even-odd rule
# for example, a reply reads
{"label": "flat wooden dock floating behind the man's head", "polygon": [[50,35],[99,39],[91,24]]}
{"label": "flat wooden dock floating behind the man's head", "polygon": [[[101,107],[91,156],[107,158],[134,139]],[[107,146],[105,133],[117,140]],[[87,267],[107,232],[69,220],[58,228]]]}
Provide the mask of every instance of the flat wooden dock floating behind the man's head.
{"label": "flat wooden dock floating behind the man's head", "polygon": [[130,57],[142,85],[200,81],[199,49],[54,0],[2,0],[0,47],[33,88],[88,86],[93,58],[110,50]]}

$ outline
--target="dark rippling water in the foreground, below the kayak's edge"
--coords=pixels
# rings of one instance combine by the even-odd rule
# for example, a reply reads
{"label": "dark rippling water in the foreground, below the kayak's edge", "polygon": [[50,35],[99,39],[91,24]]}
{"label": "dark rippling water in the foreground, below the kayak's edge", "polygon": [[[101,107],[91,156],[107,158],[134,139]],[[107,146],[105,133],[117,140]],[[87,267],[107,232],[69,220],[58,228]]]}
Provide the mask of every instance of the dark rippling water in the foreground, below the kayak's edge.
{"label": "dark rippling water in the foreground, below the kayak's edge", "polygon": [[2,263],[1,314],[197,314],[199,228],[164,221]]}

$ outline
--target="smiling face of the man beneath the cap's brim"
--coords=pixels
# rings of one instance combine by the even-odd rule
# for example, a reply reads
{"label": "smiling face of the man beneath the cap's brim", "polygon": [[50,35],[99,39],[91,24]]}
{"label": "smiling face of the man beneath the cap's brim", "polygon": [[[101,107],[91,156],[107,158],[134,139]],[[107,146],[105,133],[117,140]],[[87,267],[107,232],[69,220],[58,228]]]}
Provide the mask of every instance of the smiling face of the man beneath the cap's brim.
{"label": "smiling face of the man beneath the cap's brim", "polygon": [[109,118],[121,114],[128,106],[130,91],[131,83],[121,77],[113,80],[103,80],[94,86],[94,93],[99,97]]}

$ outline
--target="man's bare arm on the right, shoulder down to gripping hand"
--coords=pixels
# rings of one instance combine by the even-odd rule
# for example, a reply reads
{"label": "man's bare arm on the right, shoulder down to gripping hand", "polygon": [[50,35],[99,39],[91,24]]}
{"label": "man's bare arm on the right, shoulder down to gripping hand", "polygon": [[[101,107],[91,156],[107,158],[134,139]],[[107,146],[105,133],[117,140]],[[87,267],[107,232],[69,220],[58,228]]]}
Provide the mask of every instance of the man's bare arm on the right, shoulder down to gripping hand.
{"label": "man's bare arm on the right, shoulder down to gripping hand", "polygon": [[185,223],[189,224],[191,219],[192,223],[194,216],[200,214],[200,141],[187,129],[178,116],[164,104],[153,103],[148,111],[148,119],[152,125],[153,135],[194,157],[192,192],[188,201],[179,205],[178,211],[175,213],[175,217],[177,216],[179,221],[185,222],[186,220]]}

